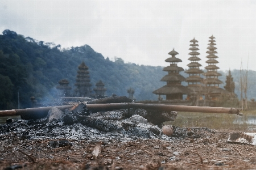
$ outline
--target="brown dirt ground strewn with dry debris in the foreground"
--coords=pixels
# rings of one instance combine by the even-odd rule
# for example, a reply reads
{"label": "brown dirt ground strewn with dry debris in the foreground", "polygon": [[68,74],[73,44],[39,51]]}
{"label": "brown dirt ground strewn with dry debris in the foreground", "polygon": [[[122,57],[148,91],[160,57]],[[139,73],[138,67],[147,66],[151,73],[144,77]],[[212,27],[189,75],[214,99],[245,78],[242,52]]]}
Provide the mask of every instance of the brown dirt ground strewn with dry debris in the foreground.
{"label": "brown dirt ground strewn with dry debris in the foreground", "polygon": [[[0,137],[0,169],[256,169],[255,146],[227,143],[230,132],[199,131],[193,139],[113,138],[100,145],[67,139],[70,145],[56,148],[48,139],[9,133]],[[101,152],[94,160],[97,145]]]}

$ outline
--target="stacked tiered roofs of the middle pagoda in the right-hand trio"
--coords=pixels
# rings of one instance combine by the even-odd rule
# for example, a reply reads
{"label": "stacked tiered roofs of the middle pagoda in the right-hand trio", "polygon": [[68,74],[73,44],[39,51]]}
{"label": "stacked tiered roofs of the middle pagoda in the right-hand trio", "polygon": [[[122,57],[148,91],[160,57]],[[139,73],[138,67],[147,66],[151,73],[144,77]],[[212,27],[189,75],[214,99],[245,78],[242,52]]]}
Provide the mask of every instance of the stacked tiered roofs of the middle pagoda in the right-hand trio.
{"label": "stacked tiered roofs of the middle pagoda in the right-hand trio", "polygon": [[198,63],[198,61],[201,60],[199,57],[197,57],[198,55],[200,55],[200,53],[197,52],[199,48],[196,47],[199,46],[198,44],[196,44],[196,42],[198,41],[194,38],[190,42],[193,43],[190,44],[190,46],[192,47],[189,48],[189,50],[192,50],[192,52],[189,53],[191,57],[188,58],[188,60],[191,61],[191,63],[187,65],[189,69],[185,71],[185,73],[189,74],[188,78],[186,79],[186,82],[188,82],[189,88],[195,88],[193,90],[198,91],[197,88],[199,88],[201,86],[201,82],[203,82],[203,78],[201,78],[200,75],[204,73],[204,71],[199,69],[199,67],[201,67],[202,65]]}

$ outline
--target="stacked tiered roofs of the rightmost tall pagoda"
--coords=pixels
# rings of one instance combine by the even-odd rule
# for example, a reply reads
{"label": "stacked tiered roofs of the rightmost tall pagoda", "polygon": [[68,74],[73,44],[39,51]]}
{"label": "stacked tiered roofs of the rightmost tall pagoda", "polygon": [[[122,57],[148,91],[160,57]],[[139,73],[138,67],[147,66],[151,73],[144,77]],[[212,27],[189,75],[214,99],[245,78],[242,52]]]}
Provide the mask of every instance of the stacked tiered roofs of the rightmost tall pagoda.
{"label": "stacked tiered roofs of the rightmost tall pagoda", "polygon": [[217,54],[217,52],[215,51],[217,48],[214,46],[215,44],[215,37],[214,36],[210,36],[209,37],[209,46],[207,49],[209,49],[207,51],[207,53],[209,54],[207,56],[207,58],[209,58],[206,63],[208,63],[208,66],[205,67],[205,69],[207,69],[207,73],[204,73],[203,75],[205,76],[205,80],[204,80],[204,84],[205,86],[214,86],[214,87],[218,87],[219,84],[222,84],[223,82],[221,82],[221,80],[218,79],[218,76],[220,76],[220,73],[217,73],[217,70],[220,69],[220,67],[216,66],[216,64],[218,63],[218,61],[216,60],[216,58],[218,58],[217,56],[215,56],[215,54]]}

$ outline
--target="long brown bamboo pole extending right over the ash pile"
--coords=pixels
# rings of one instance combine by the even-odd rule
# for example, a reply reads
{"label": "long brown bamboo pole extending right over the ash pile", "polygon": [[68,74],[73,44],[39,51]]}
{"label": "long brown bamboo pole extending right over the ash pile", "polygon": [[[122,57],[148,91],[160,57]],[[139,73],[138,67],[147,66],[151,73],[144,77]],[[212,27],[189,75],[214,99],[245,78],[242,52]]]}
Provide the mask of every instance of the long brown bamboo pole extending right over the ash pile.
{"label": "long brown bamboo pole extending right over the ash pile", "polygon": [[142,108],[142,109],[150,109],[150,110],[157,110],[157,111],[240,114],[240,110],[236,108],[198,107],[198,106],[187,106],[187,105],[143,104],[143,103],[86,104],[86,108],[89,111],[114,111],[118,109]]}

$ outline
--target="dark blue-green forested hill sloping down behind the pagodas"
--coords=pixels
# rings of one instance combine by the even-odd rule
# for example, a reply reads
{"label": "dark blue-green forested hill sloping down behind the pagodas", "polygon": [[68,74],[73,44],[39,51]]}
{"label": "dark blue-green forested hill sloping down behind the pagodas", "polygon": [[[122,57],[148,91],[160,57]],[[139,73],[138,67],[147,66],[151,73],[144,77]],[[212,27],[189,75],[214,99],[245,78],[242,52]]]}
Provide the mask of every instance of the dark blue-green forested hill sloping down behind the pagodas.
{"label": "dark blue-green forested hill sloping down behind the pagodas", "polygon": [[[31,96],[35,96],[38,103],[55,99],[56,86],[61,79],[68,79],[69,86],[74,90],[78,66],[82,61],[89,67],[92,89],[102,80],[108,96],[127,96],[127,89],[131,87],[135,90],[135,99],[157,100],[158,96],[152,91],[166,84],[160,82],[167,74],[162,71],[163,67],[124,63],[121,58],[115,58],[113,62],[89,45],[61,49],[60,45],[36,41],[5,30],[0,35],[0,110],[18,108],[18,91],[20,108],[31,107]],[[220,72],[223,87],[227,73]],[[188,76],[184,72],[181,74]],[[236,93],[239,94],[240,71],[233,70],[232,75]],[[256,99],[255,77],[256,71],[250,70],[248,99]],[[183,84],[187,85],[185,82]]]}

